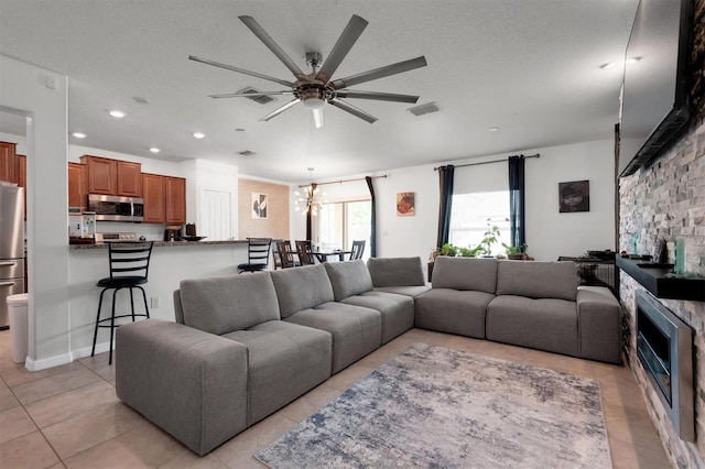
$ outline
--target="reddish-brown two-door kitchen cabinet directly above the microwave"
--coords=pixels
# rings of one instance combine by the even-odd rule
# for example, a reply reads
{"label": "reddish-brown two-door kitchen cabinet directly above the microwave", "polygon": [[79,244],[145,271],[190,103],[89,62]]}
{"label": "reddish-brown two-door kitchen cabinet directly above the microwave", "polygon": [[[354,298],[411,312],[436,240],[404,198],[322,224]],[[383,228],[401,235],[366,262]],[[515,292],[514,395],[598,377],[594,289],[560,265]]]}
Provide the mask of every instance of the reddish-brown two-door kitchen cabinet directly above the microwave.
{"label": "reddish-brown two-door kitchen cabinet directly above the microwave", "polygon": [[88,194],[142,197],[142,164],[83,155],[88,168]]}

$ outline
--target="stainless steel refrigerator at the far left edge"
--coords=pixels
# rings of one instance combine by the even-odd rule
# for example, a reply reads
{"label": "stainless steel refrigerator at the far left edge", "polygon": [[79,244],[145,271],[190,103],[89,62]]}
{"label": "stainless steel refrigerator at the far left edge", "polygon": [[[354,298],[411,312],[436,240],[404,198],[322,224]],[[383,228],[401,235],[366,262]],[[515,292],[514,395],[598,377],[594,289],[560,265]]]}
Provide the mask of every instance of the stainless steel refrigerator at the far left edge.
{"label": "stainless steel refrigerator at the far left edge", "polygon": [[8,326],[7,297],[24,293],[24,188],[0,182],[0,329]]}

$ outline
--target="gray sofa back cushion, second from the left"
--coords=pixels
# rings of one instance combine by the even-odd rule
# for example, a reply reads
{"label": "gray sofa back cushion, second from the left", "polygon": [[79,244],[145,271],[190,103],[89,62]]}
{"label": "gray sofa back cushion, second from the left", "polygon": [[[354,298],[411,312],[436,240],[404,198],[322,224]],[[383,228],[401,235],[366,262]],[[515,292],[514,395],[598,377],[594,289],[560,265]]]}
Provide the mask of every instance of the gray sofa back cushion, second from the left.
{"label": "gray sofa back cushion, second from the left", "polygon": [[271,272],[282,318],[333,302],[333,286],[323,264]]}

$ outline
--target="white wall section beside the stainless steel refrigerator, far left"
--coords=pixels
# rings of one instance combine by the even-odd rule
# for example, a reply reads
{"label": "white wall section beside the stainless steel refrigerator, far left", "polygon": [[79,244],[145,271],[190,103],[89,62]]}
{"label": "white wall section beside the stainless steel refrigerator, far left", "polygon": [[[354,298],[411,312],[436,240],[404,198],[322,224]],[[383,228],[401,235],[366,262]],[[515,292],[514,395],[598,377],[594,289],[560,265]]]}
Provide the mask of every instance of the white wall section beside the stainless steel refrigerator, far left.
{"label": "white wall section beside the stainless steel refrigerator, far left", "polygon": [[[29,360],[50,367],[70,360],[66,174],[67,78],[0,55],[0,108],[28,121]],[[46,78],[55,87],[45,86]],[[39,361],[42,363],[37,364]]]}

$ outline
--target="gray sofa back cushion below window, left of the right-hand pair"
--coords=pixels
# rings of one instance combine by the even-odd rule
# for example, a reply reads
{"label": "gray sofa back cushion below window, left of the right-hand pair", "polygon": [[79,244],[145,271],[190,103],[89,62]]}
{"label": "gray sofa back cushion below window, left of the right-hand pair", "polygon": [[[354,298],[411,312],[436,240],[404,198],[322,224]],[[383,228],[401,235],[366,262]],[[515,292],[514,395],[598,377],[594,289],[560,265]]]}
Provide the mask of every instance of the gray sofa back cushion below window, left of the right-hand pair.
{"label": "gray sofa back cushion below window, left of the right-hand pair", "polygon": [[497,259],[436,258],[433,265],[433,287],[475,290],[495,293],[497,288]]}

